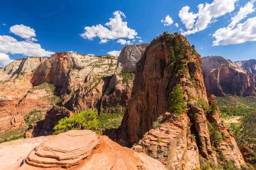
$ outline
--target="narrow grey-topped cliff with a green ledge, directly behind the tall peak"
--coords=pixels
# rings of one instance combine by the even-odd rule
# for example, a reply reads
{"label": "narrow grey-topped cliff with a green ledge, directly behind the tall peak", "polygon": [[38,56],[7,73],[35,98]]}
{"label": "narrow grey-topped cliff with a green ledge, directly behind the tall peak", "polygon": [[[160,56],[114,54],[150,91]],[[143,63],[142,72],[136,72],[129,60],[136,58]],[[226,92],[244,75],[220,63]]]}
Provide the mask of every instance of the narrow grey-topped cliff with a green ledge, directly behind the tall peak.
{"label": "narrow grey-topped cliff with a green ledge, directly behind the tall peak", "polygon": [[117,59],[116,73],[108,85],[108,94],[102,98],[102,113],[125,111],[131,98],[136,63],[141,59],[148,45],[126,45],[122,48]]}

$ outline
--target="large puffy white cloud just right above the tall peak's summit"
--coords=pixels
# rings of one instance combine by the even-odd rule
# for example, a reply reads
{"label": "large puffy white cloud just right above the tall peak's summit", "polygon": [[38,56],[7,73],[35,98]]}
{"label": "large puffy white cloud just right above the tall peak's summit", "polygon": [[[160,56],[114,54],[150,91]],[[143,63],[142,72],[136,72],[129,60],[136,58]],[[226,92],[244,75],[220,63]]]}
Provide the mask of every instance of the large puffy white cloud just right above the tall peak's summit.
{"label": "large puffy white cloud just right above the tall peak's summit", "polygon": [[179,11],[179,17],[187,31],[181,34],[186,36],[206,29],[218,21],[216,18],[234,11],[236,2],[238,0],[213,0],[212,3],[201,3],[198,5],[198,13],[189,12],[190,7],[184,6]]}

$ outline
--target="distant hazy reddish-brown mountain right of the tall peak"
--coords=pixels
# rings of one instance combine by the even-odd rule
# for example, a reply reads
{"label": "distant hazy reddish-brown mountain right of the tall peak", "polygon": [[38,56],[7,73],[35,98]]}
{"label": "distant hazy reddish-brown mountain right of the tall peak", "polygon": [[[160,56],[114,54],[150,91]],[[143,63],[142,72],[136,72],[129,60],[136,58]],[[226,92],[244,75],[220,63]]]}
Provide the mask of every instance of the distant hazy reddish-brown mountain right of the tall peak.
{"label": "distant hazy reddish-brown mountain right of the tall peak", "polygon": [[202,58],[204,84],[207,95],[255,96],[254,74],[248,73],[231,60],[220,56]]}

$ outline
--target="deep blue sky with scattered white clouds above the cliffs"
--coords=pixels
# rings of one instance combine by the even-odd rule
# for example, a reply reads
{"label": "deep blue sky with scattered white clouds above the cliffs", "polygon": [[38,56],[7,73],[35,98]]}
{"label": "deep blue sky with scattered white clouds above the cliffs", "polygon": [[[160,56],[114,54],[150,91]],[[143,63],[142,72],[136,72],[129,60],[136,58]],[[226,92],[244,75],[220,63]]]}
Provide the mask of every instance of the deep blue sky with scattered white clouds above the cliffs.
{"label": "deep blue sky with scattered white clouds above the cliffs", "polygon": [[[60,51],[108,55],[128,43],[150,43],[164,31],[182,32],[201,57],[256,58],[255,0],[8,0],[0,5],[0,36],[6,36],[0,37],[2,66],[12,59]],[[102,39],[107,43],[99,43]]]}

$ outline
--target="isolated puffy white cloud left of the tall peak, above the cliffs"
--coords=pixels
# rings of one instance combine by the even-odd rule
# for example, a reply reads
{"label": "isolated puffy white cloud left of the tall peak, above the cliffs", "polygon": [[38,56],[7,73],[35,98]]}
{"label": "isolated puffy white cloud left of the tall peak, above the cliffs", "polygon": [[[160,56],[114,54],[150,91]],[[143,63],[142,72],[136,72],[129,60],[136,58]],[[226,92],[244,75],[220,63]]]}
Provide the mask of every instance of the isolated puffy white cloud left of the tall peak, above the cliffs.
{"label": "isolated puffy white cloud left of the tall peak, above the cliffs", "polygon": [[[115,40],[118,38],[128,38],[134,39],[138,34],[134,29],[128,28],[127,22],[122,21],[122,18],[125,18],[125,14],[121,11],[114,11],[113,18],[110,18],[108,23],[105,23],[105,26],[101,24],[91,27],[85,27],[84,33],[80,34],[84,39],[93,40],[95,37],[106,40]],[[105,43],[105,41],[101,42]]]}

